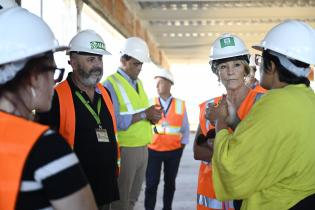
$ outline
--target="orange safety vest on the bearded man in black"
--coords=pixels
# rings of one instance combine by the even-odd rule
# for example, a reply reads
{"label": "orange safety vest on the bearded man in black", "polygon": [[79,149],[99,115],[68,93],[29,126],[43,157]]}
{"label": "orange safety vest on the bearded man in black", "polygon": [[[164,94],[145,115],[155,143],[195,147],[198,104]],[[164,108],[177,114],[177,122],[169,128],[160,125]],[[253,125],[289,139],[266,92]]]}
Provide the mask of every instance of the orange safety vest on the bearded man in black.
{"label": "orange safety vest on the bearded man in black", "polygon": [[[117,164],[120,166],[120,149],[118,144],[117,124],[114,112],[114,106],[107,91],[101,83],[97,84],[98,90],[101,92],[102,98],[109,110],[113,120],[114,132],[117,141]],[[72,98],[71,88],[67,80],[61,82],[56,88],[59,106],[60,106],[60,127],[59,133],[66,139],[71,147],[74,145],[75,135],[75,110]]]}

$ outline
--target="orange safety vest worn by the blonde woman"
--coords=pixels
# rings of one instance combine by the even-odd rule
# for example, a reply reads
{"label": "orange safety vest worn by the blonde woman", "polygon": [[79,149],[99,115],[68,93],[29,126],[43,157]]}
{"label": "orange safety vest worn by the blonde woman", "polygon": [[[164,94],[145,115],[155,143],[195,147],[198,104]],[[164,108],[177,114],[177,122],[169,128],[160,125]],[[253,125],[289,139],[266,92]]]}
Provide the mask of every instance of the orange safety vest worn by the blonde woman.
{"label": "orange safety vest worn by the blonde woman", "polygon": [[[265,90],[264,90],[265,91]],[[248,114],[249,110],[254,105],[258,96],[260,96],[264,91],[250,90],[246,98],[239,107],[237,114],[242,120]],[[216,97],[214,99],[208,100],[200,104],[200,114],[199,123],[202,134],[206,135],[210,129],[214,126],[210,124],[208,120],[205,119],[205,110],[209,102],[217,104],[222,97]],[[232,201],[219,201],[215,199],[215,191],[212,182],[212,168],[209,163],[201,162],[199,168],[198,176],[198,187],[197,187],[197,210],[234,210]]]}

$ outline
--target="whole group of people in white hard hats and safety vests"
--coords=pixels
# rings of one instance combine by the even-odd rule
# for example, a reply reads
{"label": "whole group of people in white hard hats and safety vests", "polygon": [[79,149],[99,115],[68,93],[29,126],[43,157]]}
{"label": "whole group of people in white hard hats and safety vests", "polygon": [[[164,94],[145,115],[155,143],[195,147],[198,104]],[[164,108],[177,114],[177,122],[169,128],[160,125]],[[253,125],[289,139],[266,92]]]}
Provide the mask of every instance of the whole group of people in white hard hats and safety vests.
{"label": "whole group of people in white hard hats and safety vests", "polygon": [[[60,46],[13,0],[0,1],[0,25],[0,209],[132,210],[145,180],[144,206],[153,210],[162,165],[163,209],[172,209],[188,117],[168,70],[156,71],[159,96],[148,99],[138,78],[150,62],[145,41],[127,38],[117,72],[101,84],[110,52],[95,31]],[[315,31],[285,21],[254,48],[262,52],[260,85],[239,37],[226,33],[211,45],[209,64],[226,94],[200,105],[196,208],[314,209],[315,95],[307,76]],[[64,81],[57,51],[72,67]]]}

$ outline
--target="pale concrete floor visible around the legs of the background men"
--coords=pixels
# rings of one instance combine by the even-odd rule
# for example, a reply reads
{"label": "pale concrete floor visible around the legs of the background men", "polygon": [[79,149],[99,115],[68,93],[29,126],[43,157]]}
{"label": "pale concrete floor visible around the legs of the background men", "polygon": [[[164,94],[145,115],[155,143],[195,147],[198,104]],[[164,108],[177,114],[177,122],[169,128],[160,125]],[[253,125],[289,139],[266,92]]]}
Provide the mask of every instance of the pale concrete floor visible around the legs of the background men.
{"label": "pale concrete floor visible around the legs of the background men", "polygon": [[[182,160],[179,166],[179,171],[176,179],[176,191],[173,200],[173,210],[193,210],[196,209],[196,190],[199,162],[193,158],[193,139],[195,134],[191,133],[189,145],[186,146]],[[162,169],[163,171],[163,169]],[[163,173],[163,172],[162,172]],[[163,174],[158,188],[156,210],[163,208]],[[142,185],[139,200],[135,206],[135,210],[144,210],[144,188]]]}

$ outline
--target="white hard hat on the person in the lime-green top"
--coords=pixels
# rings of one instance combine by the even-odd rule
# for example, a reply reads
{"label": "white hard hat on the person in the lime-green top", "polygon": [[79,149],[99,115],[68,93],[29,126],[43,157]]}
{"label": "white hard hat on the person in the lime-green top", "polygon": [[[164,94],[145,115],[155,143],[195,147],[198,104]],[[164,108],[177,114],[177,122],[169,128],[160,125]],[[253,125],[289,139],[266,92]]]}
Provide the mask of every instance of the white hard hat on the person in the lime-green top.
{"label": "white hard hat on the person in the lime-green top", "polygon": [[261,41],[257,50],[271,50],[307,64],[315,64],[315,32],[298,20],[287,20],[273,27]]}

